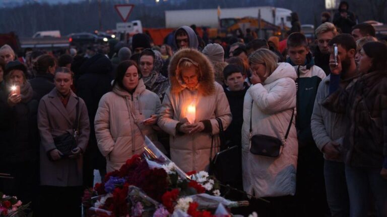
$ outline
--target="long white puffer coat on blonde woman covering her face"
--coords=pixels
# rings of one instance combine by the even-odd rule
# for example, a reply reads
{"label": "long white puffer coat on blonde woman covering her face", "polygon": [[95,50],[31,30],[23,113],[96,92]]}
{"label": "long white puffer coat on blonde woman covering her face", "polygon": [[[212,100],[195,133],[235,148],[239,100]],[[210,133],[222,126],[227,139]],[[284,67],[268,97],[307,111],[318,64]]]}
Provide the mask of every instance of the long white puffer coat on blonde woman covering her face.
{"label": "long white puffer coat on blonde woman covering her face", "polygon": [[244,97],[242,126],[243,188],[257,197],[294,195],[298,155],[295,118],[286,145],[277,158],[250,153],[251,102],[252,135],[283,139],[296,106],[296,71],[280,63],[263,84],[251,86]]}

